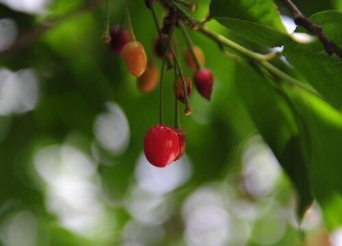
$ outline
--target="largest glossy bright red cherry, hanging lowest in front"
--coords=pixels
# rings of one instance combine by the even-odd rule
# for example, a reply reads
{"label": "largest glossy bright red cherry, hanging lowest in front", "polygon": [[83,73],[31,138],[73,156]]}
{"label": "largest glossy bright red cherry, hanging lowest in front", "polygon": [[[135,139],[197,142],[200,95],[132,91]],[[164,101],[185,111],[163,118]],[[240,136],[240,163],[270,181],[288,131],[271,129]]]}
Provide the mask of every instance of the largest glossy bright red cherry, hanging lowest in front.
{"label": "largest glossy bright red cherry, hanging lowest in front", "polygon": [[179,153],[179,137],[170,126],[157,124],[148,129],[144,139],[144,154],[155,167],[165,167]]}

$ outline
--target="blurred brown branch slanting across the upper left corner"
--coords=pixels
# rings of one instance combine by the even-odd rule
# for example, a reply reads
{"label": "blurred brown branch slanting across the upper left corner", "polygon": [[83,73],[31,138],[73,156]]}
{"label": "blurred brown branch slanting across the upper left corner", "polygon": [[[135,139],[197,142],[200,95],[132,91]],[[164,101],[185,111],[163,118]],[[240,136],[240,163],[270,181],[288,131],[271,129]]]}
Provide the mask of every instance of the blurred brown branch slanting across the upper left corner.
{"label": "blurred brown branch slanting across the upper left corner", "polygon": [[23,36],[19,37],[11,46],[7,49],[0,51],[0,57],[4,55],[9,55],[10,53],[14,53],[20,51],[21,49],[25,48],[29,45],[32,41],[42,35],[47,29],[51,27],[55,27],[55,25],[61,23],[63,20],[66,20],[75,14],[79,14],[84,11],[90,11],[96,8],[101,3],[101,0],[90,0],[84,3],[83,5],[79,6],[75,10],[71,10],[70,12],[63,14],[62,16],[58,16],[51,20],[45,20],[42,24],[38,25],[31,31],[23,34]]}

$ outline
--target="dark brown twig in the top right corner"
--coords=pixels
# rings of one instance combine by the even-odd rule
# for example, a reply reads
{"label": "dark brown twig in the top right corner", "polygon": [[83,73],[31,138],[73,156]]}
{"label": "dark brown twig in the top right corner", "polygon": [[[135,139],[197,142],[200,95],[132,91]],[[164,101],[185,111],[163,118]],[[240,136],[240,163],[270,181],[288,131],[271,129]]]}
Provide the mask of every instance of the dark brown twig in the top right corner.
{"label": "dark brown twig in the top right corner", "polygon": [[332,40],[330,40],[330,38],[328,38],[328,36],[324,34],[321,26],[313,23],[313,21],[311,21],[309,18],[306,18],[306,16],[304,16],[304,14],[302,14],[302,12],[298,10],[297,6],[291,0],[282,1],[284,1],[289,10],[291,10],[293,18],[295,20],[295,24],[301,25],[307,31],[317,36],[319,41],[321,41],[321,43],[323,44],[324,49],[326,50],[326,53],[328,53],[328,55],[332,55],[333,53],[335,53],[342,58],[342,49],[340,49],[337,44],[332,42]]}

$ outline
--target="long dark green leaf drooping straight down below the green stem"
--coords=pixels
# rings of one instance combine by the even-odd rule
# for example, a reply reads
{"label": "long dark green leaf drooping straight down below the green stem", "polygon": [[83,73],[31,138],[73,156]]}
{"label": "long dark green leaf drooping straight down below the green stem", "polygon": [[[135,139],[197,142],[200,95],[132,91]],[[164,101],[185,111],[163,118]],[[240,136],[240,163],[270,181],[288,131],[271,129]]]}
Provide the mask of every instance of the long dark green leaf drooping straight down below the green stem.
{"label": "long dark green leaf drooping straight down below the green stem", "polygon": [[302,120],[281,88],[261,72],[240,63],[237,74],[237,86],[255,126],[298,191],[302,217],[313,202]]}

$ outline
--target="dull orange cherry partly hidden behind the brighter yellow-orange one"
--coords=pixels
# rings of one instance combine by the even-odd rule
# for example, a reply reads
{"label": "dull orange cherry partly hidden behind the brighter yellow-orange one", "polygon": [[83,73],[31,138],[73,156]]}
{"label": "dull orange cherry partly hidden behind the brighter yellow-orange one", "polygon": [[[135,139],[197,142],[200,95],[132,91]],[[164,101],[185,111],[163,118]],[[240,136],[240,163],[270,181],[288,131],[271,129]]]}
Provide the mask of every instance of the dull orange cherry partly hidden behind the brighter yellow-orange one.
{"label": "dull orange cherry partly hidden behind the brighter yellow-orange one", "polygon": [[137,78],[137,87],[140,92],[150,92],[155,89],[159,80],[159,71],[154,64],[148,64],[145,72]]}

